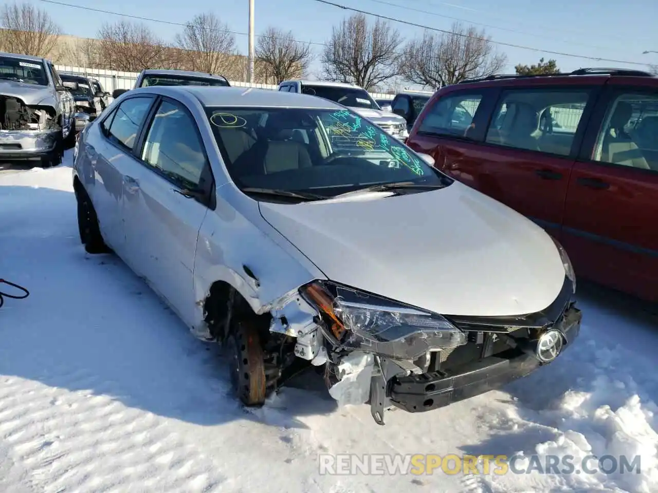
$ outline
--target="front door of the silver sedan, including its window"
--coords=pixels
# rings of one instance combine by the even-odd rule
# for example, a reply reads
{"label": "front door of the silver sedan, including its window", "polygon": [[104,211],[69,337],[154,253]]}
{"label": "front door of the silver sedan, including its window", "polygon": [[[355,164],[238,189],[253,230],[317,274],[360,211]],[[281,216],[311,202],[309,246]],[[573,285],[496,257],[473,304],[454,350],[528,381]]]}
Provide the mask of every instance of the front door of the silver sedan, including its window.
{"label": "front door of the silver sedan, including its window", "polygon": [[197,125],[185,106],[163,99],[150,122],[141,166],[124,190],[128,246],[154,291],[193,321],[193,270],[199,228],[213,186]]}

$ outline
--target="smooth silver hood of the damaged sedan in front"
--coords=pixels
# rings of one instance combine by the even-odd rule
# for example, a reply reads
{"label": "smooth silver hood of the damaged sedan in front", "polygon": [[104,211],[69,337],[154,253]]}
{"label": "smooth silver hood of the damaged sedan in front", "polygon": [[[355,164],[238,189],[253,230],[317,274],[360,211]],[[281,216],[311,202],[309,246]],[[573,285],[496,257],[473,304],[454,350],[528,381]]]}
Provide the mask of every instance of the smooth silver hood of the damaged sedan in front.
{"label": "smooth silver hood of the damaged sedan in front", "polygon": [[369,195],[259,205],[263,218],[332,281],[440,314],[534,313],[563,287],[565,269],[551,237],[466,185]]}

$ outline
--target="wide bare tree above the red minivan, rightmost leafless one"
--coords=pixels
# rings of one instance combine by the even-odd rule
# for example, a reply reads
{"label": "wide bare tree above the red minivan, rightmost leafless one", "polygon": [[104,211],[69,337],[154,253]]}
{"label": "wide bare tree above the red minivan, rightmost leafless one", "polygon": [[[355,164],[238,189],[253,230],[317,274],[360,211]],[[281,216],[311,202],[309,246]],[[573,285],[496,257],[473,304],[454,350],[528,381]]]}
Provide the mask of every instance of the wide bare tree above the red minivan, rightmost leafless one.
{"label": "wide bare tree above the red minivan, rightmost leafless one", "polygon": [[459,22],[449,33],[424,32],[422,38],[409,41],[403,53],[401,72],[405,80],[434,89],[496,74],[507,64],[507,56],[495,52],[484,30],[465,28]]}

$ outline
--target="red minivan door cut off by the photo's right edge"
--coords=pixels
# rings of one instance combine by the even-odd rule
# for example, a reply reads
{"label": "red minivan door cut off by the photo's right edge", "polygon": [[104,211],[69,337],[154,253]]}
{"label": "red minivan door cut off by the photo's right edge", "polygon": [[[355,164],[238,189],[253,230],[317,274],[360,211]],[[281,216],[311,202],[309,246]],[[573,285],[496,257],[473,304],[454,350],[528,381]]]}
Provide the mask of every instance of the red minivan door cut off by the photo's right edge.
{"label": "red minivan door cut off by the photo's right edge", "polygon": [[658,86],[611,78],[567,194],[576,275],[658,301]]}

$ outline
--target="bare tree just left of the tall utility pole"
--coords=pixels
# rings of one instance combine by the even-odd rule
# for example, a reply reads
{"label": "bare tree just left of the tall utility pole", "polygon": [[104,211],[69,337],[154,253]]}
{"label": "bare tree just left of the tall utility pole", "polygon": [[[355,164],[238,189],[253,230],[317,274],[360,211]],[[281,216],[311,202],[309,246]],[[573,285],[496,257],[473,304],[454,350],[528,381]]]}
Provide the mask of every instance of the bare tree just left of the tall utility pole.
{"label": "bare tree just left of the tall utility pole", "polygon": [[188,22],[182,34],[176,35],[176,45],[192,52],[191,70],[209,74],[224,74],[236,53],[236,38],[228,32],[228,24],[222,24],[212,12],[198,14]]}

